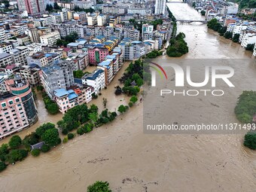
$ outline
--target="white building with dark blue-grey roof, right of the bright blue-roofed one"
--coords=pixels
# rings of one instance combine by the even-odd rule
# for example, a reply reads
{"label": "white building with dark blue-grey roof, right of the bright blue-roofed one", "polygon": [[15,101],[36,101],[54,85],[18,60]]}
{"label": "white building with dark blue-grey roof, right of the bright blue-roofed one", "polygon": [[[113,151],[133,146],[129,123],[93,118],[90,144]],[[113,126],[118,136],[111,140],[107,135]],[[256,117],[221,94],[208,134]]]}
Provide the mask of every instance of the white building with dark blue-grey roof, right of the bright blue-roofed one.
{"label": "white building with dark blue-grey roof, right of the bright blue-roofed one", "polygon": [[105,88],[105,72],[102,69],[96,69],[90,74],[82,77],[82,83],[93,87],[95,94]]}

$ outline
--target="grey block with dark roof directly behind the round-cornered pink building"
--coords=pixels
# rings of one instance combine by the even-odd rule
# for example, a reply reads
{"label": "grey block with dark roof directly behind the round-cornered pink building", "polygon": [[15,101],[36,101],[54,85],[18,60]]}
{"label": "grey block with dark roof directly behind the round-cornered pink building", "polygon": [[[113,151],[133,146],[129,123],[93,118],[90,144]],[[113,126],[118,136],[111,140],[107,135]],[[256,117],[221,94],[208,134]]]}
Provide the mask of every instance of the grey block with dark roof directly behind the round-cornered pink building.
{"label": "grey block with dark roof directly behind the round-cornered pink building", "polygon": [[40,72],[41,68],[35,64],[20,67],[20,76],[26,79],[32,87],[41,83]]}

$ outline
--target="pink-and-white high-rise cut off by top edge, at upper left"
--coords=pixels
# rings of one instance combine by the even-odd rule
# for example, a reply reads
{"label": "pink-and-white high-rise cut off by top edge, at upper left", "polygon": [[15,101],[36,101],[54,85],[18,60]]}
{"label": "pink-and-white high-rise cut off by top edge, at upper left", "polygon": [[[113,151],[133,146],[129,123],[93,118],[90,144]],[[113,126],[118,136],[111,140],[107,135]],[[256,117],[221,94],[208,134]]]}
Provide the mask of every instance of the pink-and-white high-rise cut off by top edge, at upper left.
{"label": "pink-and-white high-rise cut off by top edge, at upper left", "polygon": [[20,11],[27,11],[31,15],[41,14],[45,11],[43,0],[18,0],[17,5]]}

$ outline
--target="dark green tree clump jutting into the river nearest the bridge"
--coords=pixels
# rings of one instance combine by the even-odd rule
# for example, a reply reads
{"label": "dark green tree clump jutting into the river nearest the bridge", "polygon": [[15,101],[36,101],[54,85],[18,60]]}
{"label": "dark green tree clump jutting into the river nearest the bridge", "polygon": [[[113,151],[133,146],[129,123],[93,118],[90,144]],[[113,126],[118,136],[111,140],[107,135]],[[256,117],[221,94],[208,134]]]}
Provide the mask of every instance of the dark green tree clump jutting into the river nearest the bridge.
{"label": "dark green tree clump jutting into the river nearest the bridge", "polygon": [[178,57],[188,53],[187,42],[184,41],[185,37],[186,35],[184,35],[183,32],[180,32],[175,39],[170,40],[170,45],[166,50],[168,56]]}

